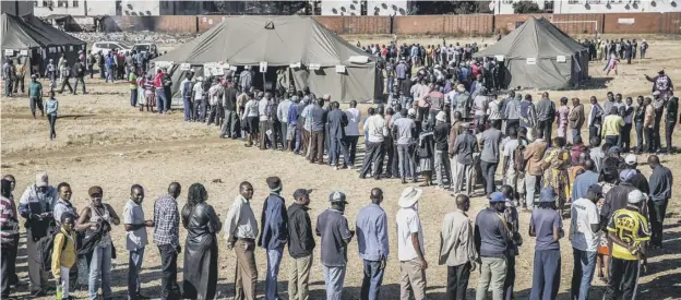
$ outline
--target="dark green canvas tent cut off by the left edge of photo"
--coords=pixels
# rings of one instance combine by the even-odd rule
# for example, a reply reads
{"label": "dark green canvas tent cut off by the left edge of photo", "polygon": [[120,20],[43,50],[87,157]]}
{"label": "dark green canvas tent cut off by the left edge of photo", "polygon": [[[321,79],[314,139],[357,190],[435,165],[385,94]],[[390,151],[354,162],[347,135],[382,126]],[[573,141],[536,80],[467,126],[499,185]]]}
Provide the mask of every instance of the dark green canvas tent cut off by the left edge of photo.
{"label": "dark green canvas tent cut off by the left edge of photo", "polygon": [[58,61],[65,53],[70,63],[86,44],[32,14],[16,16],[2,13],[2,58],[27,57],[32,69],[44,72],[49,59]]}

